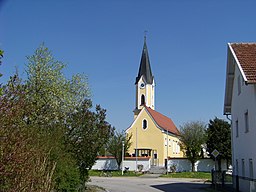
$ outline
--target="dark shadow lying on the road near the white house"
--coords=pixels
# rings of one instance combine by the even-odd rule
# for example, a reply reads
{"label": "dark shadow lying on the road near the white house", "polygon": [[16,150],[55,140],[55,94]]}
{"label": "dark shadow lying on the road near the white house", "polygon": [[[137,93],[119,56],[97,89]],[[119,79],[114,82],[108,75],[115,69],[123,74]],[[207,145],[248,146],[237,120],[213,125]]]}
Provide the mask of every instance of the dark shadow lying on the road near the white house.
{"label": "dark shadow lying on the road near the white house", "polygon": [[165,192],[198,192],[207,191],[206,189],[211,188],[211,185],[203,183],[169,183],[163,185],[151,185],[151,187]]}

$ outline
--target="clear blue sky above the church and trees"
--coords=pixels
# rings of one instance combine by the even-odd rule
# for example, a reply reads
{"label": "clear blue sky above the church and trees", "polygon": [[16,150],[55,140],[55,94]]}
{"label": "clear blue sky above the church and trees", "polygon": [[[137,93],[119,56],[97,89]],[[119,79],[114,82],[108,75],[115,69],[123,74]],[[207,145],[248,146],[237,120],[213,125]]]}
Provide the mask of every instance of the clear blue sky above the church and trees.
{"label": "clear blue sky above the church and trees", "polygon": [[45,43],[65,74],[89,78],[94,104],[117,129],[133,121],[144,31],[156,81],[156,110],[177,127],[225,118],[228,42],[256,41],[256,1],[0,0],[6,82]]}

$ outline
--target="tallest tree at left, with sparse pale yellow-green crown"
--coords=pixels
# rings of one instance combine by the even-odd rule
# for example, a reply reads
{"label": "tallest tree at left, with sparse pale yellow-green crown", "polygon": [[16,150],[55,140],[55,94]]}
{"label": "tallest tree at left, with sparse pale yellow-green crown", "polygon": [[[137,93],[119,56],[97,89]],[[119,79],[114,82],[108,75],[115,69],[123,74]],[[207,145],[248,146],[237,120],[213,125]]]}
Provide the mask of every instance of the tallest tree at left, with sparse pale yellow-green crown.
{"label": "tallest tree at left, with sparse pale yellow-green crown", "polygon": [[[43,146],[49,172],[53,173],[52,188],[75,190],[72,186],[79,180],[79,169],[65,143],[68,132],[66,122],[70,114],[89,97],[87,79],[82,75],[67,79],[62,72],[65,65],[54,59],[44,45],[27,59],[26,98],[31,104],[27,122],[36,127],[40,136],[38,142]],[[72,177],[73,180],[67,179]]]}

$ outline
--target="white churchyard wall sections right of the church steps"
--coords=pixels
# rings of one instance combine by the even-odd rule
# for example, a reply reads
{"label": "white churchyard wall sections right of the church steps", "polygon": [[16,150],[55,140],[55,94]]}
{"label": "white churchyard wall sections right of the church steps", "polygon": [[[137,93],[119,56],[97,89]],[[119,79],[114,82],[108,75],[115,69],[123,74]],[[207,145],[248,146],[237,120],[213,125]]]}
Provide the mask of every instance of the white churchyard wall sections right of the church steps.
{"label": "white churchyard wall sections right of the church steps", "polygon": [[[168,160],[168,168],[171,166],[176,167],[177,172],[192,171],[191,163],[186,158],[174,158]],[[212,159],[200,159],[195,163],[195,171],[198,172],[211,172],[215,168],[215,161]],[[221,169],[227,170],[226,161],[221,162]]]}

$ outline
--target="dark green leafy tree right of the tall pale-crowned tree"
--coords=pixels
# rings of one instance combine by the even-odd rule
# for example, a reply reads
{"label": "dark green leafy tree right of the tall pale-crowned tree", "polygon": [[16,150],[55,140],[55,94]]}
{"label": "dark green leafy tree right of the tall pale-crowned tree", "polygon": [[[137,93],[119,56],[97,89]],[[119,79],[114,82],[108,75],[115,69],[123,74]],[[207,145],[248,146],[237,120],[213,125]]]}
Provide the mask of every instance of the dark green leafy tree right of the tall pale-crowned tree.
{"label": "dark green leafy tree right of the tall pale-crowned tree", "polygon": [[88,179],[88,170],[94,165],[99,150],[113,134],[113,128],[106,122],[106,110],[97,105],[96,111],[92,112],[89,110],[91,107],[92,102],[85,100],[71,115],[67,124],[68,143],[71,144],[70,149],[75,156],[83,184]]}

